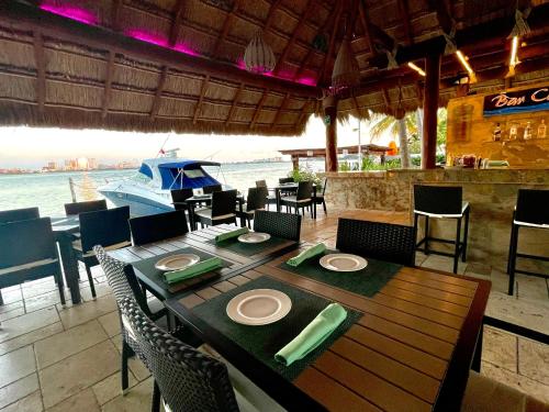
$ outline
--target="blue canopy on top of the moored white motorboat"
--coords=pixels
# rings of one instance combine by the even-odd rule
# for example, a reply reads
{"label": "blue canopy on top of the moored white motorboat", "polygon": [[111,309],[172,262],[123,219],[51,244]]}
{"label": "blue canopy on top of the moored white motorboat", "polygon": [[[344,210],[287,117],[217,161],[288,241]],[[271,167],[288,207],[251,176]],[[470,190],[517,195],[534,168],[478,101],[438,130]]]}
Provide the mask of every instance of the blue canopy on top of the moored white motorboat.
{"label": "blue canopy on top of the moored white motorboat", "polygon": [[156,158],[144,160],[139,172],[155,179],[155,169],[161,180],[161,189],[199,189],[220,185],[202,166],[221,166],[215,162]]}

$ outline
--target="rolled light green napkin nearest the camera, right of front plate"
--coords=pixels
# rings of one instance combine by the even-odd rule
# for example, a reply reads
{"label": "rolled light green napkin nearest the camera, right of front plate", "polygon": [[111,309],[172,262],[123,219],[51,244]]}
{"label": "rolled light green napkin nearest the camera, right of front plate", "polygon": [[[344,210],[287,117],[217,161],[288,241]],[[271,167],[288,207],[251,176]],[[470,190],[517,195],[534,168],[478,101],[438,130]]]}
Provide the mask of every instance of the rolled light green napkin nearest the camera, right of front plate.
{"label": "rolled light green napkin nearest the camera, right of front plate", "polygon": [[305,326],[292,342],[280,349],[274,359],[290,366],[321,345],[347,318],[347,311],[338,303],[328,304]]}

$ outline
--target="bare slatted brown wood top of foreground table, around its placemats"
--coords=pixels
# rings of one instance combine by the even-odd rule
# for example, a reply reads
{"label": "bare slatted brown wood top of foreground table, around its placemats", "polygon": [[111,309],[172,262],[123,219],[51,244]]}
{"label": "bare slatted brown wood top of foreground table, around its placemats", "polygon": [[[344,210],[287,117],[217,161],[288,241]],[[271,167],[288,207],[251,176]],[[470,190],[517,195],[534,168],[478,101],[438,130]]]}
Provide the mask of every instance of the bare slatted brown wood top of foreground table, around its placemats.
{"label": "bare slatted brown wood top of foreground table, around its placemats", "polygon": [[[287,271],[288,253],[166,302],[201,337],[284,407],[332,411],[459,410],[482,331],[490,282],[403,267],[372,298]],[[293,381],[255,361],[192,308],[269,276],[363,313]]]}

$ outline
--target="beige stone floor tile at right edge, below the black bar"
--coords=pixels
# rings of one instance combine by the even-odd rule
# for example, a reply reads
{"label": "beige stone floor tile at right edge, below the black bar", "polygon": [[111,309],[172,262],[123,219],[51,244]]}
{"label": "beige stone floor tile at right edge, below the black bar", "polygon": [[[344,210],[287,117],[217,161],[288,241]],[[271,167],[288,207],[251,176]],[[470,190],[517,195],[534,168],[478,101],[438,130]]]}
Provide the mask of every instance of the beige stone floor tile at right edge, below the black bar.
{"label": "beige stone floor tile at right edge, below the black bar", "polygon": [[545,383],[549,388],[549,345],[519,338],[518,374]]}

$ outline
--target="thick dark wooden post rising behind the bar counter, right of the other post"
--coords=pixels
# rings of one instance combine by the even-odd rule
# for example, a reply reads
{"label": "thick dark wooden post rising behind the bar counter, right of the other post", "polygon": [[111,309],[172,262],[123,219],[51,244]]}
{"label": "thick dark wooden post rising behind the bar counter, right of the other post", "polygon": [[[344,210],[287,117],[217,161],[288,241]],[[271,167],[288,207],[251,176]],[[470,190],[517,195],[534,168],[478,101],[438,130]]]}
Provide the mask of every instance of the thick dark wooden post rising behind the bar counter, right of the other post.
{"label": "thick dark wooden post rising behind the bar counter, right of the other post", "polygon": [[434,169],[437,157],[437,111],[441,55],[425,58],[425,90],[423,100],[422,169]]}

